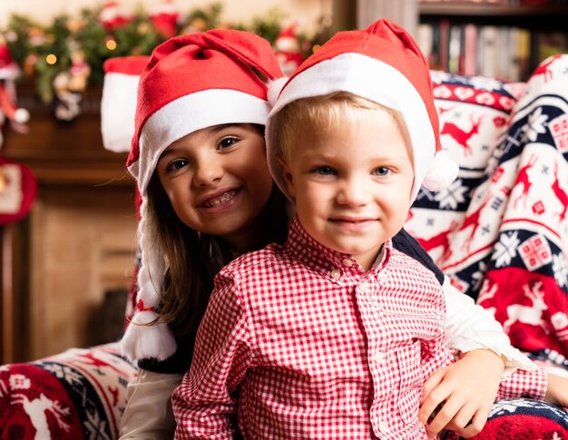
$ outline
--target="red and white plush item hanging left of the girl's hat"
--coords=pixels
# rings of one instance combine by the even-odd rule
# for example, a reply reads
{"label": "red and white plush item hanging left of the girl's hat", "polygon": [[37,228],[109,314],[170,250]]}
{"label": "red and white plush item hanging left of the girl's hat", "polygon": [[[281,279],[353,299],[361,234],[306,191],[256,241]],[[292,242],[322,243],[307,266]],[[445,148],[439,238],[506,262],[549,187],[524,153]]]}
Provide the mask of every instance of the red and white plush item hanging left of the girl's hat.
{"label": "red and white plush item hanging left of the girl's hat", "polygon": [[138,82],[149,60],[147,55],[118,56],[103,64],[101,132],[103,146],[111,152],[130,152]]}

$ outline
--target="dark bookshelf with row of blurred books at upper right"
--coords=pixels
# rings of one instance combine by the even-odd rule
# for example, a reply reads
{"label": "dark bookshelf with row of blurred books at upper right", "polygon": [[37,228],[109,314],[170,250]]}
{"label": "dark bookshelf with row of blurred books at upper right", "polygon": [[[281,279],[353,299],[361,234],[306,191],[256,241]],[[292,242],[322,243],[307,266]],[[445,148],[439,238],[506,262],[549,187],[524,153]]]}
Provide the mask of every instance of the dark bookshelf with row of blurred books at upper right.
{"label": "dark bookshelf with row of blurred books at upper right", "polygon": [[524,81],[568,53],[568,1],[418,1],[416,39],[433,69]]}

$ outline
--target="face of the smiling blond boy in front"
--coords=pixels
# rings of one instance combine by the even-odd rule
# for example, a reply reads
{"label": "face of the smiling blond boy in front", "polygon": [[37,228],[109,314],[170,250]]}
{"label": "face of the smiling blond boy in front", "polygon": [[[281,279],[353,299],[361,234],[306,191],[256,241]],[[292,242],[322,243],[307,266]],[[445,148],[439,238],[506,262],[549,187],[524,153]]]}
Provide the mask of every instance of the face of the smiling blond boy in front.
{"label": "face of the smiling blond boy in front", "polygon": [[365,112],[358,122],[303,131],[283,166],[303,228],[367,270],[406,221],[414,172],[395,119]]}

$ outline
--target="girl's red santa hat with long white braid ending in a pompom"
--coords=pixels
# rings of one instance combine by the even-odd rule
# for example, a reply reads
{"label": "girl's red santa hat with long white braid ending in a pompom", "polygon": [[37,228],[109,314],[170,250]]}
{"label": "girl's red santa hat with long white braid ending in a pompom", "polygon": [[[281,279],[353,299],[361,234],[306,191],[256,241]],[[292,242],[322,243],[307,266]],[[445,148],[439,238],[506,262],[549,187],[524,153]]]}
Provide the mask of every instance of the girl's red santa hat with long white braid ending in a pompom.
{"label": "girl's red santa hat with long white braid ending in a pompom", "polygon": [[142,197],[137,310],[122,352],[131,359],[165,359],[176,349],[156,308],[165,270],[162,248],[146,229],[148,183],[162,152],[181,137],[222,123],[266,124],[270,81],[281,76],[270,44],[243,31],[214,29],[171,38],[154,49],[142,73],[128,170]]}

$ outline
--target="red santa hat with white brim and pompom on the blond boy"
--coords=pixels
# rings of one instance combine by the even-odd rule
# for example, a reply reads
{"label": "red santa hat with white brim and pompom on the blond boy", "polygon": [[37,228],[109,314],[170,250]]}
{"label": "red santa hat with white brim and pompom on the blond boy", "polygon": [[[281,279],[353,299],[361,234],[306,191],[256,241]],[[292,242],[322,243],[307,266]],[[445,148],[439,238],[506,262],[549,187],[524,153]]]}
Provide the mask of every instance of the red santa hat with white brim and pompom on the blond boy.
{"label": "red santa hat with white brim and pompom on the blond boy", "polygon": [[458,167],[440,147],[426,58],[403,28],[380,19],[365,30],[335,34],[299,66],[281,90],[270,91],[274,107],[267,123],[267,153],[269,169],[282,191],[288,194],[272,145],[272,117],[293,101],[340,91],[402,115],[414,153],[412,200],[421,184],[441,191],[455,180]]}

